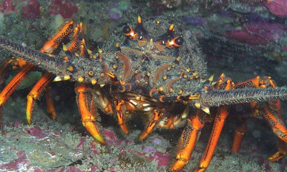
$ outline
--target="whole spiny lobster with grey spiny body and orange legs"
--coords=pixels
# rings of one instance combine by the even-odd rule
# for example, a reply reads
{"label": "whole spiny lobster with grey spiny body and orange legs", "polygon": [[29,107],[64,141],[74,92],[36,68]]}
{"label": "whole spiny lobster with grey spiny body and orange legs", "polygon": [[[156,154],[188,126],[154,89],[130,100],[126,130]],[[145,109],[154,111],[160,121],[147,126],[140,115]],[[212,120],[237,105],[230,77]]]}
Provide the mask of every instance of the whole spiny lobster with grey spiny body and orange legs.
{"label": "whole spiny lobster with grey spiny body and orange legs", "polygon": [[[121,31],[122,30],[122,31]],[[72,35],[58,55],[52,52]],[[33,70],[42,78],[27,96],[27,121],[31,124],[33,101],[52,81],[75,82],[76,101],[82,124],[100,143],[106,144],[98,130],[97,108],[117,116],[123,133],[126,122],[136,114],[144,116],[144,140],[154,128],[185,127],[179,139],[179,150],[171,170],[188,163],[205,122],[214,127],[197,171],[204,171],[212,158],[230,105],[242,106],[242,126],[237,128],[232,150],[238,152],[245,132],[245,117],[264,118],[279,137],[279,151],[270,160],[286,155],[287,129],[282,121],[280,102],[287,99],[287,88],[276,88],[270,77],[256,77],[234,84],[223,74],[216,82],[213,76],[204,80],[206,63],[196,39],[176,20],[148,18],[137,25],[126,25],[115,31],[97,53],[87,48],[82,24],[65,22],[38,52],[0,38],[0,48],[15,55],[0,70],[0,83],[12,68],[20,72],[0,93],[0,109],[20,82]],[[263,88],[263,89],[262,89]],[[56,118],[52,97],[45,94],[47,109]],[[263,102],[263,103],[257,103]],[[267,102],[267,103],[264,103]],[[210,108],[211,107],[211,108]],[[1,112],[1,111],[0,111]]]}

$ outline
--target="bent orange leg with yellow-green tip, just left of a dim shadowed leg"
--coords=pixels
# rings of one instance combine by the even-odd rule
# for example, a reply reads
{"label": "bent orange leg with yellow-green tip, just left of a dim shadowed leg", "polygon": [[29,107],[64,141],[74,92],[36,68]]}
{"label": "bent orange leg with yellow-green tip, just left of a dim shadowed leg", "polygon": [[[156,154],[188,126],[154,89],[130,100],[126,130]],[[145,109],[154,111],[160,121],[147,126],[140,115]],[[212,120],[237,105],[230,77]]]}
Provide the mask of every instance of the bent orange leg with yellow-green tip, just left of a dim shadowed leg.
{"label": "bent orange leg with yellow-green tip, just left of a dim shadowed leg", "polygon": [[38,80],[32,90],[27,96],[26,117],[28,125],[31,125],[33,101],[38,98],[43,89],[55,78],[54,74],[45,72],[44,75]]}

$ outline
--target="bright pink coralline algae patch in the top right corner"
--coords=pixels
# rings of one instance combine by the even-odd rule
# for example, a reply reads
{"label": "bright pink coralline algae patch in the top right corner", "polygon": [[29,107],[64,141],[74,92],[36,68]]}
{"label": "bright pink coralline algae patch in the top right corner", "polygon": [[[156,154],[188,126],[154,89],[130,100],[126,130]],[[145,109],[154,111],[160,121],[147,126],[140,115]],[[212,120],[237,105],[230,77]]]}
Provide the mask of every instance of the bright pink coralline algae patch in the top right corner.
{"label": "bright pink coralline algae patch in the top right corner", "polygon": [[279,17],[287,17],[286,0],[267,0],[265,7],[267,7],[271,13]]}

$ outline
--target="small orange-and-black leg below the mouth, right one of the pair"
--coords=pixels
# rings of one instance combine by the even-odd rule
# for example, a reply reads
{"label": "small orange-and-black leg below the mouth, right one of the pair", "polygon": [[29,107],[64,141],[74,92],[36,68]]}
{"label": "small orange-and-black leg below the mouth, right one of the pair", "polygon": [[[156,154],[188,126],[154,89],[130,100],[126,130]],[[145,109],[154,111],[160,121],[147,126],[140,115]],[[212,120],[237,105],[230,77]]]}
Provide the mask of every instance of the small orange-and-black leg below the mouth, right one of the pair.
{"label": "small orange-and-black leg below the mouth, right one of the pair", "polygon": [[145,129],[145,131],[140,135],[139,140],[143,140],[149,135],[152,131],[153,128],[156,126],[158,120],[163,116],[164,114],[164,109],[154,109],[152,113],[150,114],[151,120],[149,120],[149,123]]}

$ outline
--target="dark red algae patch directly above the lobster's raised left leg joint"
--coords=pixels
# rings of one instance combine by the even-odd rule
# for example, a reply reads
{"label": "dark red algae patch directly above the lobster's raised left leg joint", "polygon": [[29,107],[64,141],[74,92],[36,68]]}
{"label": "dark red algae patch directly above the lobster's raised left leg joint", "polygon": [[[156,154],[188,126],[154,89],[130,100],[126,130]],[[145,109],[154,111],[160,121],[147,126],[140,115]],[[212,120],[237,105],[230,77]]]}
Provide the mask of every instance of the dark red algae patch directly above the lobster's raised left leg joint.
{"label": "dark red algae patch directly above the lobster's raised left leg joint", "polygon": [[78,12],[78,7],[69,0],[52,0],[49,9],[50,15],[61,14],[63,18],[73,18]]}

